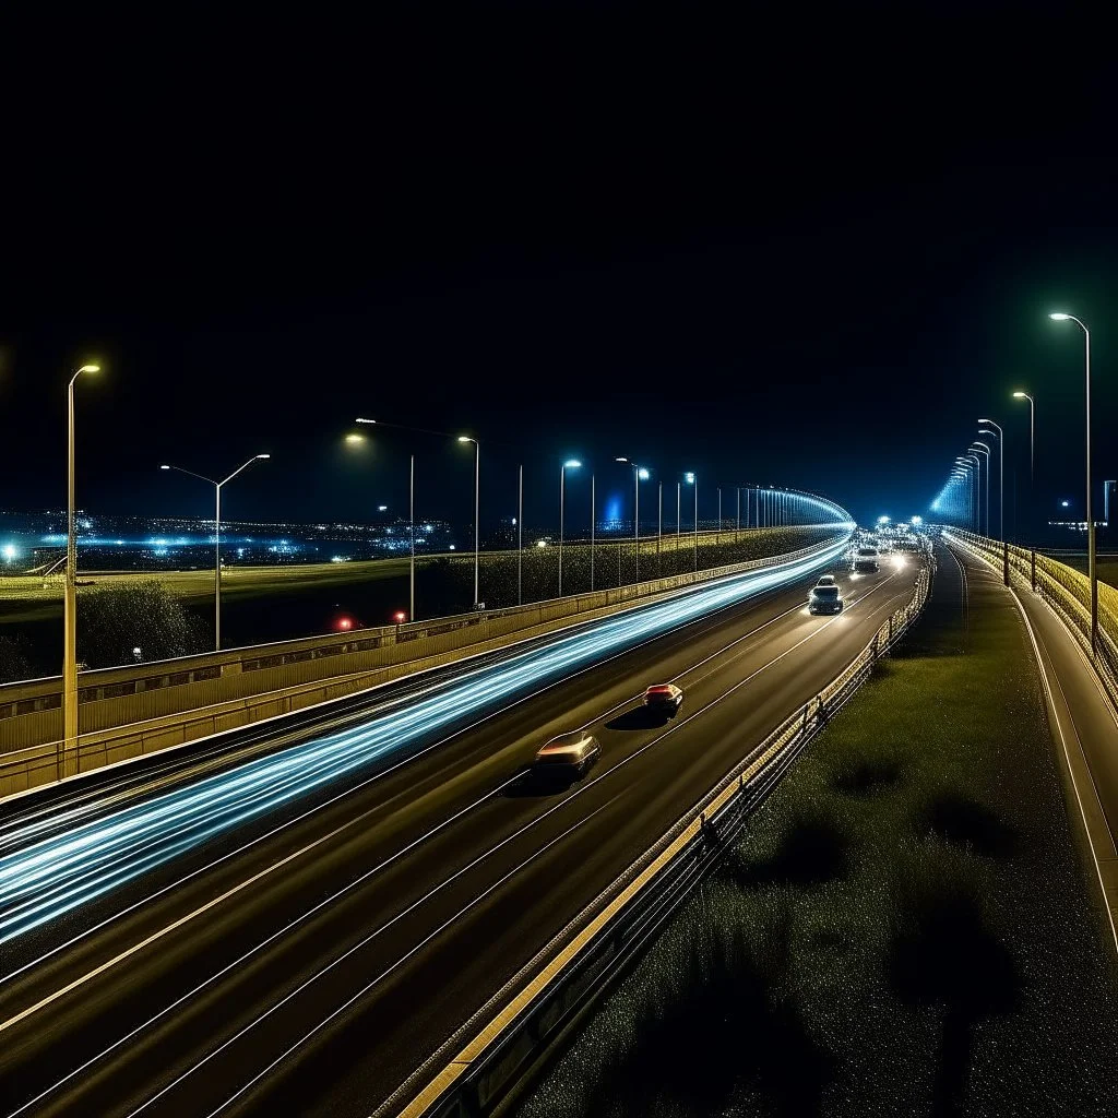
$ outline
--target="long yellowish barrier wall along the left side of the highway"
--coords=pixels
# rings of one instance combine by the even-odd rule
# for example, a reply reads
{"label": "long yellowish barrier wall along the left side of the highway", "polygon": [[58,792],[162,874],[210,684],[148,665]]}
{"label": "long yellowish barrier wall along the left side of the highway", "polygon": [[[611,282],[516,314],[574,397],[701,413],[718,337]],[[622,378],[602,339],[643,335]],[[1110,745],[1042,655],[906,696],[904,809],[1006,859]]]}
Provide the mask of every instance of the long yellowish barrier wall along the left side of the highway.
{"label": "long yellowish barrier wall along the left side of the highway", "polygon": [[83,672],[77,756],[61,754],[59,681],[8,684],[0,688],[0,797],[498,651],[572,618],[593,620],[713,579],[793,562],[846,534],[690,575],[401,625],[398,638],[392,625]]}

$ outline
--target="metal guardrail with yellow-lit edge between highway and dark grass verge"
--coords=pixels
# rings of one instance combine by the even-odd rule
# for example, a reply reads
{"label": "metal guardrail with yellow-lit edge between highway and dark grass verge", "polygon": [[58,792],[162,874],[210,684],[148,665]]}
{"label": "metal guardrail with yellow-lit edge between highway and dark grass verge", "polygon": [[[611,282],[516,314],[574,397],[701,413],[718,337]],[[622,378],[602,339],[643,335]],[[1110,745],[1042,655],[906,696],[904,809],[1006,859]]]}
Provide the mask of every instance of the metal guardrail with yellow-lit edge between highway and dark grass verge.
{"label": "metal guardrail with yellow-lit edge between highway and dark grass verge", "polygon": [[926,557],[928,566],[908,604],[890,615],[843,672],[591,901],[378,1107],[375,1118],[484,1118],[501,1110],[919,616],[935,570],[930,549]]}

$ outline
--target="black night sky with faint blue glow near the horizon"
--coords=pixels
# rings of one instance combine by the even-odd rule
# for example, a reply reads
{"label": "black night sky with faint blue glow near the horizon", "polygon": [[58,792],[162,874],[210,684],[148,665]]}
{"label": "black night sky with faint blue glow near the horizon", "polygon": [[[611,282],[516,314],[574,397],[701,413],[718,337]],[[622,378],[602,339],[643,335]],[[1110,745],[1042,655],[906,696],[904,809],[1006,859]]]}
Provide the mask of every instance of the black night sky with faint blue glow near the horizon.
{"label": "black night sky with faint blue glow near the horizon", "polygon": [[1101,35],[1020,7],[471,7],[9,28],[0,505],[64,503],[87,354],[94,511],[206,512],[161,461],[268,451],[230,517],[364,519],[414,448],[420,514],[466,519],[468,451],[386,432],[347,455],[367,414],[476,434],[483,520],[514,511],[519,462],[528,521],[555,519],[570,454],[603,492],[628,492],[618,454],[665,493],[695,470],[703,517],[756,481],[910,515],[986,411],[1024,485],[1018,387],[1040,493],[1081,501],[1057,306],[1092,328],[1097,473],[1118,471]]}

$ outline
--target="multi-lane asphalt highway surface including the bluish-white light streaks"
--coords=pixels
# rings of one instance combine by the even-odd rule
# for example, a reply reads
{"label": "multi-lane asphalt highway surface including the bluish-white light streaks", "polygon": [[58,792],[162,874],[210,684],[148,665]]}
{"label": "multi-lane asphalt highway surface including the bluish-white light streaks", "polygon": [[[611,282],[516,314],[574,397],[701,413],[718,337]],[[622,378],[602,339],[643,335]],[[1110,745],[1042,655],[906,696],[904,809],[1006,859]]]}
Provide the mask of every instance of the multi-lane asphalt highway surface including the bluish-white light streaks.
{"label": "multi-lane asphalt highway surface including the bluish-white light streaks", "polygon": [[[368,1115],[837,674],[917,565],[843,575],[839,617],[807,615],[814,571],[745,600],[710,587],[666,631],[642,610],[544,650],[531,682],[514,660],[236,765],[106,777],[68,814],[16,805],[3,1112]],[[639,694],[669,680],[682,710],[646,718]],[[534,749],[582,726],[598,765],[527,784]]]}

